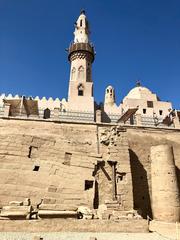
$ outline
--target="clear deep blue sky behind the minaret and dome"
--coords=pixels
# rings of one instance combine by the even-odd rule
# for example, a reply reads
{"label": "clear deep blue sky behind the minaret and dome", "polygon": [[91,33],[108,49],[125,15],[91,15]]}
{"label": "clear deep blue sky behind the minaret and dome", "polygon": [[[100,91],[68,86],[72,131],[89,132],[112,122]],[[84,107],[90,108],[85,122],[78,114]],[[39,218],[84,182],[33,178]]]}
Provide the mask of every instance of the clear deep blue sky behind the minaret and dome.
{"label": "clear deep blue sky behind the minaret and dome", "polygon": [[0,92],[67,98],[65,48],[84,8],[96,48],[94,95],[117,103],[140,79],[179,106],[179,0],[0,0]]}

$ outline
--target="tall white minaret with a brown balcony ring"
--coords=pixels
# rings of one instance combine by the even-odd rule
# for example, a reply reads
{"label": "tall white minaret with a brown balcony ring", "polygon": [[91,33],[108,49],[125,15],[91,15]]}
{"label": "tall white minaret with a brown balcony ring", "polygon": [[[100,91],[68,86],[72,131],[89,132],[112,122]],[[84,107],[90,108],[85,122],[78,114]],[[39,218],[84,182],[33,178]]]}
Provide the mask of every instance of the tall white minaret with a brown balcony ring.
{"label": "tall white minaret with a brown balcony ring", "polygon": [[74,41],[68,49],[68,59],[71,63],[69,110],[94,112],[92,63],[95,53],[89,41],[89,34],[85,11],[81,11],[75,23]]}

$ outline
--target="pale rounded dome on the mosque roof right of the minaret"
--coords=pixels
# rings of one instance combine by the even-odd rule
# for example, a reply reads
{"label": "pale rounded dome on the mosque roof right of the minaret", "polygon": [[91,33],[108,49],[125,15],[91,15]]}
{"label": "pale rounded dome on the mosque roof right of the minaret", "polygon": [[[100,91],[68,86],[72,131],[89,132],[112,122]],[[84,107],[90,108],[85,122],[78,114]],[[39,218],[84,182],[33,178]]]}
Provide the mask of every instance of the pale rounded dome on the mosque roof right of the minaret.
{"label": "pale rounded dome on the mosque roof right of the minaret", "polygon": [[152,93],[148,88],[137,86],[127,94],[125,99],[144,99],[144,100],[157,100],[157,96]]}

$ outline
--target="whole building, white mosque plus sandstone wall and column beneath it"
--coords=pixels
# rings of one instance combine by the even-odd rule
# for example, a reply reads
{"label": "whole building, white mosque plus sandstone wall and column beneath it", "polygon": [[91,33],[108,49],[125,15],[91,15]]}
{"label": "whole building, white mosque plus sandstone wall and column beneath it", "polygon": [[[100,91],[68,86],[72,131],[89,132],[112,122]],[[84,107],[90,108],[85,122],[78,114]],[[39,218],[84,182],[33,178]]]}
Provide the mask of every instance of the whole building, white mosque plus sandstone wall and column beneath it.
{"label": "whole building, white mosque plus sandstone wall and column beneath it", "polygon": [[97,104],[89,34],[81,11],[67,100],[0,95],[0,220],[179,222],[180,111],[139,82],[120,105],[112,86]]}

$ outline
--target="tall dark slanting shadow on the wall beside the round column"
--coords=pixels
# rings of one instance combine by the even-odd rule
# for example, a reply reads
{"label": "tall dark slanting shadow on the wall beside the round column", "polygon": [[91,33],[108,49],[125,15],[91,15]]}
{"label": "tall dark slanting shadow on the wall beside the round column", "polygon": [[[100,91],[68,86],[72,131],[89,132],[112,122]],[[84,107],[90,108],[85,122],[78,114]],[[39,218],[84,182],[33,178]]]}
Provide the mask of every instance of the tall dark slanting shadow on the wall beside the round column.
{"label": "tall dark slanting shadow on the wall beside the round column", "polygon": [[139,210],[138,213],[143,218],[147,218],[147,216],[152,218],[147,172],[140,163],[136,153],[130,149],[129,154],[132,173],[134,209]]}

